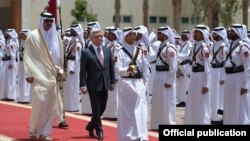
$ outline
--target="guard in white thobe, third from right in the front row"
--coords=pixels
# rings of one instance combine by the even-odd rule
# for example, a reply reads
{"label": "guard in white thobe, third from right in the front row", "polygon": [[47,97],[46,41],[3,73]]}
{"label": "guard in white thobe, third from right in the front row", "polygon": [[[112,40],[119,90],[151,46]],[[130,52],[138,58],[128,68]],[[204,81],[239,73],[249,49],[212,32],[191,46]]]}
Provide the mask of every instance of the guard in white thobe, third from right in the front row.
{"label": "guard in white thobe, third from right in the front row", "polygon": [[184,124],[211,123],[209,32],[210,29],[205,25],[197,25],[193,32],[196,43],[191,54],[192,72]]}

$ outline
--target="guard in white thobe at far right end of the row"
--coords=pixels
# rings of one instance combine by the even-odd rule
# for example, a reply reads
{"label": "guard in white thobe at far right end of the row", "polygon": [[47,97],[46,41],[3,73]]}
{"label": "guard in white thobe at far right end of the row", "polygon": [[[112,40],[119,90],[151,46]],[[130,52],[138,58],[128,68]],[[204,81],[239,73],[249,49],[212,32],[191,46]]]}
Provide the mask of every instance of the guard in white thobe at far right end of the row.
{"label": "guard in white thobe at far right end of the row", "polygon": [[230,26],[225,60],[223,124],[250,124],[250,41],[245,25]]}

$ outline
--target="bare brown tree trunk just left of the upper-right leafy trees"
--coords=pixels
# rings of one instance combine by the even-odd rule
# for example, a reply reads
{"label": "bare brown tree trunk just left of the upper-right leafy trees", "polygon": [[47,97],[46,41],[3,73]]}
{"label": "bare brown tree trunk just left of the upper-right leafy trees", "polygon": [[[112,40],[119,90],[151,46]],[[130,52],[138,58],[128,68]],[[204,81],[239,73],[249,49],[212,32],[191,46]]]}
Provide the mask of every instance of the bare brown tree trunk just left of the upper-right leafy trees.
{"label": "bare brown tree trunk just left of the upper-right leafy trees", "polygon": [[174,29],[180,31],[181,22],[181,0],[172,0],[173,4],[173,17],[174,17]]}

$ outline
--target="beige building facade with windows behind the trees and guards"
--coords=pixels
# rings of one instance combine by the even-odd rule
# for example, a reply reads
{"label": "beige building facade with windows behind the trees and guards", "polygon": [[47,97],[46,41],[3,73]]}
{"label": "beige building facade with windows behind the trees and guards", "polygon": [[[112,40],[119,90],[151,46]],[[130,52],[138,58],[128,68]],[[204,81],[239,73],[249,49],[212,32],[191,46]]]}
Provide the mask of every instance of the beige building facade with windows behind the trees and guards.
{"label": "beige building facade with windows behind the trees and guards", "polygon": [[[74,17],[75,0],[61,1],[61,17],[63,28],[70,27]],[[88,12],[97,15],[102,28],[114,25],[115,0],[87,0]],[[48,0],[0,0],[0,29],[15,28],[16,30],[28,28],[35,29],[38,25],[39,14],[44,10]],[[196,24],[192,19],[192,0],[182,1],[181,29],[191,30]],[[172,0],[149,0],[149,30],[160,26],[173,27]],[[138,26],[143,24],[143,0],[121,0],[120,27]],[[235,22],[242,23],[242,11],[239,10],[234,17]],[[59,16],[58,16],[59,17]],[[58,20],[59,22],[59,20]],[[81,22],[86,27],[87,21]]]}

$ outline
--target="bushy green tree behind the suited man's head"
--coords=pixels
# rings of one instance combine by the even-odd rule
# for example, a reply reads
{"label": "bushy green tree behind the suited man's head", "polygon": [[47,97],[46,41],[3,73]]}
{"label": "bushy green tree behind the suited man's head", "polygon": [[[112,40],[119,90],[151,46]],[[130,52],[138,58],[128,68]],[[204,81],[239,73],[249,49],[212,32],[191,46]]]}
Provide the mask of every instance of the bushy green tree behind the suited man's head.
{"label": "bushy green tree behind the suited man's head", "polygon": [[76,20],[74,20],[72,23],[79,23],[80,21],[84,21],[84,19],[87,19],[87,21],[97,20],[96,15],[88,13],[87,5],[88,2],[86,0],[75,1],[75,9],[71,10],[71,15],[74,16]]}

